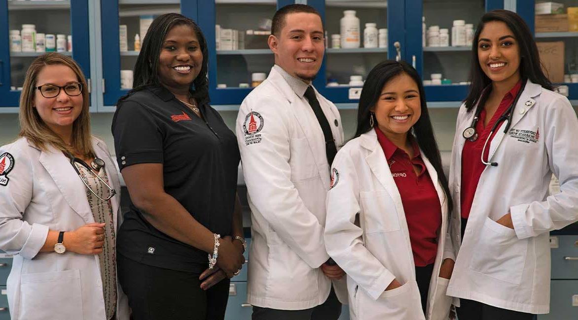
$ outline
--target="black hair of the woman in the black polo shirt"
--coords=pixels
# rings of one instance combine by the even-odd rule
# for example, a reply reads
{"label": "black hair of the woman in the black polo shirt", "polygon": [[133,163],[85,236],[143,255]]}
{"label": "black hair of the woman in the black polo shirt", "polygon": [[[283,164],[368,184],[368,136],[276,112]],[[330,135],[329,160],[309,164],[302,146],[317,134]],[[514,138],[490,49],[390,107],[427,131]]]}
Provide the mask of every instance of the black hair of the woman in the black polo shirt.
{"label": "black hair of the woman in the black polo shirt", "polygon": [[158,57],[161,54],[162,43],[165,40],[166,34],[177,25],[188,25],[197,35],[199,47],[203,53],[203,63],[197,78],[192,82],[191,95],[197,99],[199,104],[209,102],[209,80],[207,78],[207,72],[209,70],[209,50],[207,48],[205,35],[203,35],[201,28],[199,28],[195,21],[178,13],[162,14],[155,18],[150,25],[146,36],[144,36],[139,57],[136,58],[132,90],[129,91],[127,95],[118,99],[118,102],[146,88],[146,86],[161,85],[160,78],[158,77]]}

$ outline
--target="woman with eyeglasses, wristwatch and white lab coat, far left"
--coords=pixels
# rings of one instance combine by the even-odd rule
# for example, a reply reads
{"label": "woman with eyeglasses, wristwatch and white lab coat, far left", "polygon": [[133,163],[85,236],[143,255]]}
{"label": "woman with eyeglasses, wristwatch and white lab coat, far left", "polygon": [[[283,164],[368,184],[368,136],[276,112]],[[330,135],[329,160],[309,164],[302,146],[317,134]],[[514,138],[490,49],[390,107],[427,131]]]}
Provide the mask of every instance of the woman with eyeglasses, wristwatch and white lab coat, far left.
{"label": "woman with eyeglasses, wristwatch and white lab coat, far left", "polygon": [[12,319],[128,319],[116,276],[120,183],[90,133],[80,67],[50,53],[28,68],[18,140],[0,147],[0,250]]}

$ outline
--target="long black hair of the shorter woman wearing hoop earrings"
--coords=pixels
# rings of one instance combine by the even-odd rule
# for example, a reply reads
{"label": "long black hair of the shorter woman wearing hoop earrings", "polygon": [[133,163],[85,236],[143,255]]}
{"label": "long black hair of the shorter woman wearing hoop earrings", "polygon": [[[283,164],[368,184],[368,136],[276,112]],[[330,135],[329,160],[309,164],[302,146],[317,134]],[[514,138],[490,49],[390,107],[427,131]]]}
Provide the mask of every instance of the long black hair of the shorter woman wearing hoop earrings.
{"label": "long black hair of the shorter woman wearing hoop earrings", "polygon": [[446,194],[448,212],[451,213],[453,202],[451,201],[447,177],[443,172],[442,157],[439,155],[438,143],[433,135],[432,123],[429,118],[427,104],[425,103],[424,86],[416,69],[407,64],[407,62],[386,60],[373,67],[369,72],[361,90],[360,103],[357,108],[357,130],[355,130],[354,138],[373,130],[373,127],[369,125],[371,109],[376,106],[383,87],[401,74],[410,76],[416,82],[420,92],[421,116],[412,127],[413,135],[416,138],[417,145],[438,173],[439,182]]}

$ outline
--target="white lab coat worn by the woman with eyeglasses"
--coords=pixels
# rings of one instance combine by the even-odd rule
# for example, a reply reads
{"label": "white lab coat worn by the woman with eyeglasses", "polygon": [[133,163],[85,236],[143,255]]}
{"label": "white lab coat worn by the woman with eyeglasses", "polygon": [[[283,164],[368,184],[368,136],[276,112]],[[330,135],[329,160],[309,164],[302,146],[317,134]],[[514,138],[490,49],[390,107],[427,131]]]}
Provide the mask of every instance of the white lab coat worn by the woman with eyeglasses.
{"label": "white lab coat worn by the woman with eyeglasses", "polygon": [[[110,201],[118,229],[120,183],[116,166],[104,142],[92,141],[117,192]],[[49,229],[73,231],[94,223],[86,186],[70,160],[52,146],[42,151],[20,138],[2,146],[0,155],[4,152],[14,157],[8,185],[0,186],[0,249],[14,254],[7,283],[10,317],[104,320],[98,255],[39,252]],[[127,299],[118,281],[117,286],[117,319],[128,319]]]}

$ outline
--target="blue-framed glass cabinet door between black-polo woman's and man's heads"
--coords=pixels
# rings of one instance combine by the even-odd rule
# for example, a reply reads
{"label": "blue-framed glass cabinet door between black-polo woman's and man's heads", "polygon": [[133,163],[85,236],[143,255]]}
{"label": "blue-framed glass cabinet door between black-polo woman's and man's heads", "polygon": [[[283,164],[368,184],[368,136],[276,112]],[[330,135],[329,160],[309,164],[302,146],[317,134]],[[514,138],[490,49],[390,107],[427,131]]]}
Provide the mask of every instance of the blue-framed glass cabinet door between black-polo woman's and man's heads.
{"label": "blue-framed glass cabinet door between black-polo woman's and man's heads", "polygon": [[278,7],[293,1],[207,0],[199,25],[208,39],[209,94],[214,105],[240,104],[268,76],[275,58],[267,39]]}

